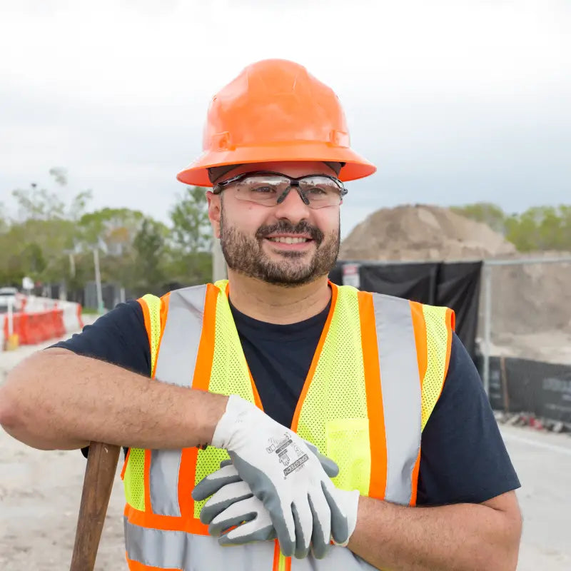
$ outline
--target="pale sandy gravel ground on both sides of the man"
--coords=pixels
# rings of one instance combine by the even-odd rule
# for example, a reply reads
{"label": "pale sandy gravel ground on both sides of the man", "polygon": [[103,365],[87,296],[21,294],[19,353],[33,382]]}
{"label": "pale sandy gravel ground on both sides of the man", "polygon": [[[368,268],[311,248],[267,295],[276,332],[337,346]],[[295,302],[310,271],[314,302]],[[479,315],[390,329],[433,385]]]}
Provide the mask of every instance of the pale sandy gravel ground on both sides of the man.
{"label": "pale sandy gravel ground on both sides of the man", "polygon": [[[4,373],[40,347],[0,353]],[[518,571],[571,569],[571,438],[502,425],[520,475],[524,535]],[[121,462],[119,463],[121,468]],[[77,450],[44,452],[0,429],[0,570],[69,568],[85,460]],[[113,487],[96,570],[126,570],[122,485]]]}

